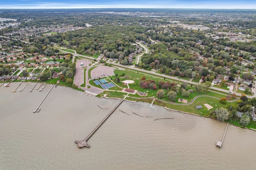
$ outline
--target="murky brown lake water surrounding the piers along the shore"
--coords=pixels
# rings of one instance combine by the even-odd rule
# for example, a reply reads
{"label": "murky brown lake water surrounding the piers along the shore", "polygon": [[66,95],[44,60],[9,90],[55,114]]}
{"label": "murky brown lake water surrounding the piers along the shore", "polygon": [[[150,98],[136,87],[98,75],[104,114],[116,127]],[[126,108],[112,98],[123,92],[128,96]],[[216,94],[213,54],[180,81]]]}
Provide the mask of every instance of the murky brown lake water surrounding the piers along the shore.
{"label": "murky brown lake water surrounding the piers along the shore", "polygon": [[18,84],[0,87],[1,170],[256,169],[256,132],[229,125],[219,149],[226,123],[143,102],[123,102],[90,137],[91,147],[78,149],[74,141],[84,140],[119,100],[57,86],[33,113],[52,85],[39,92],[38,83],[30,92],[35,83],[28,83],[12,92]]}

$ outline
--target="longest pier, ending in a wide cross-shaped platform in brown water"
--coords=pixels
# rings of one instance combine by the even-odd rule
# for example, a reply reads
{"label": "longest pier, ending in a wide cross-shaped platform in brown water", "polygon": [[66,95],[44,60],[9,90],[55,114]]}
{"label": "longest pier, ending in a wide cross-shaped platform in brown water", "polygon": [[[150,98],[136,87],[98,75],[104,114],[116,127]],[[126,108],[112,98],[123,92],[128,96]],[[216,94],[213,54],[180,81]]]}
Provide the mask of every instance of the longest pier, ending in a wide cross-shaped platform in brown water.
{"label": "longest pier, ending in a wide cross-shaped platform in brown water", "polygon": [[97,131],[99,129],[99,127],[104,123],[104,121],[106,119],[108,119],[108,117],[115,111],[115,109],[124,101],[124,99],[126,98],[126,96],[124,96],[124,98],[108,113],[108,115],[106,115],[106,117],[98,124],[98,126],[96,126],[93,131],[83,140],[83,141],[75,141],[75,143],[77,143],[78,148],[82,148],[82,147],[88,147],[90,148],[90,145],[87,144],[87,140],[94,134],[95,131]]}

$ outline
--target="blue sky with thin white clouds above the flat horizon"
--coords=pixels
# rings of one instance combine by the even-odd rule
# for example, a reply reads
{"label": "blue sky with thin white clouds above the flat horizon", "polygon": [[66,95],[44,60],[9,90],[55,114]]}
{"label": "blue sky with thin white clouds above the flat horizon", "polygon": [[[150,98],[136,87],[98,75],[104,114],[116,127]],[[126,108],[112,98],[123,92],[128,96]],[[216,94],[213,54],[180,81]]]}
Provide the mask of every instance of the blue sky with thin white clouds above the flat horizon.
{"label": "blue sky with thin white clouds above the flat horizon", "polygon": [[0,9],[208,8],[256,9],[256,0],[1,0]]}

